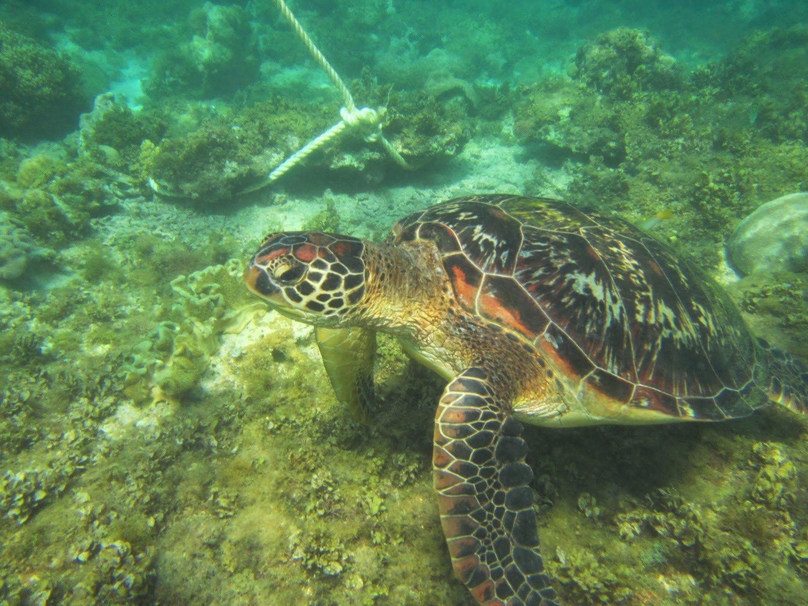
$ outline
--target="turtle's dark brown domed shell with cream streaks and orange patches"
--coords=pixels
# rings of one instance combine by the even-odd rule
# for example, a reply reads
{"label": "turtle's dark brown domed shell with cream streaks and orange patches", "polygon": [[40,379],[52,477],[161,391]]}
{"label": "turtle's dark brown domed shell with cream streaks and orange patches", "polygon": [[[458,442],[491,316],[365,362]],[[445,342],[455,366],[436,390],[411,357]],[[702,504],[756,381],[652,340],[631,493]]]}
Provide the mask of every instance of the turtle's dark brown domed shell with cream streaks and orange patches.
{"label": "turtle's dark brown domed shell with cream streaks and orange patches", "polygon": [[726,294],[626,221],[559,200],[467,196],[405,217],[390,238],[435,242],[469,313],[612,400],[718,420],[766,399],[755,342]]}

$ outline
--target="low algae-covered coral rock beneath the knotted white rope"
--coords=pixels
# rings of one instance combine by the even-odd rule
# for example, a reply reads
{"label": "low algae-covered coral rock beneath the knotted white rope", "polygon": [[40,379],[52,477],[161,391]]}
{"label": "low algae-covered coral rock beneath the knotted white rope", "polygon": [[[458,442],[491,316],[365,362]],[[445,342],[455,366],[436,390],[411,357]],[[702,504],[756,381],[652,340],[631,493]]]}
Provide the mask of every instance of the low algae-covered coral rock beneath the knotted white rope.
{"label": "low algae-covered coral rock beneath the knotted white rope", "polygon": [[[371,107],[380,107],[390,95],[369,74],[354,82],[351,92]],[[385,136],[410,166],[434,166],[460,154],[469,139],[464,103],[440,103],[411,92],[390,101]],[[307,105],[280,97],[207,116],[190,132],[169,131],[156,145],[146,141],[141,147],[141,175],[162,196],[199,205],[229,201],[332,125],[335,116],[339,116],[336,105]],[[345,136],[295,167],[284,181],[356,189],[378,185],[385,175],[401,170],[381,146]]]}

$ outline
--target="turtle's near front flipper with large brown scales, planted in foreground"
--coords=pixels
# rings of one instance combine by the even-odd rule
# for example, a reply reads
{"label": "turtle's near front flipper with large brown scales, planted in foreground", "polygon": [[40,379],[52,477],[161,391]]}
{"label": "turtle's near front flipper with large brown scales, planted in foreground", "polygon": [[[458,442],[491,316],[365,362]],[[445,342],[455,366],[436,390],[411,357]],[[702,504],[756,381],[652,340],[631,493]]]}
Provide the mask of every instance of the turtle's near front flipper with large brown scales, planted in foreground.
{"label": "turtle's near front flipper with large brown scales, planted in foreground", "polygon": [[522,424],[482,368],[444,391],[432,464],[457,578],[485,606],[557,606],[539,553]]}

